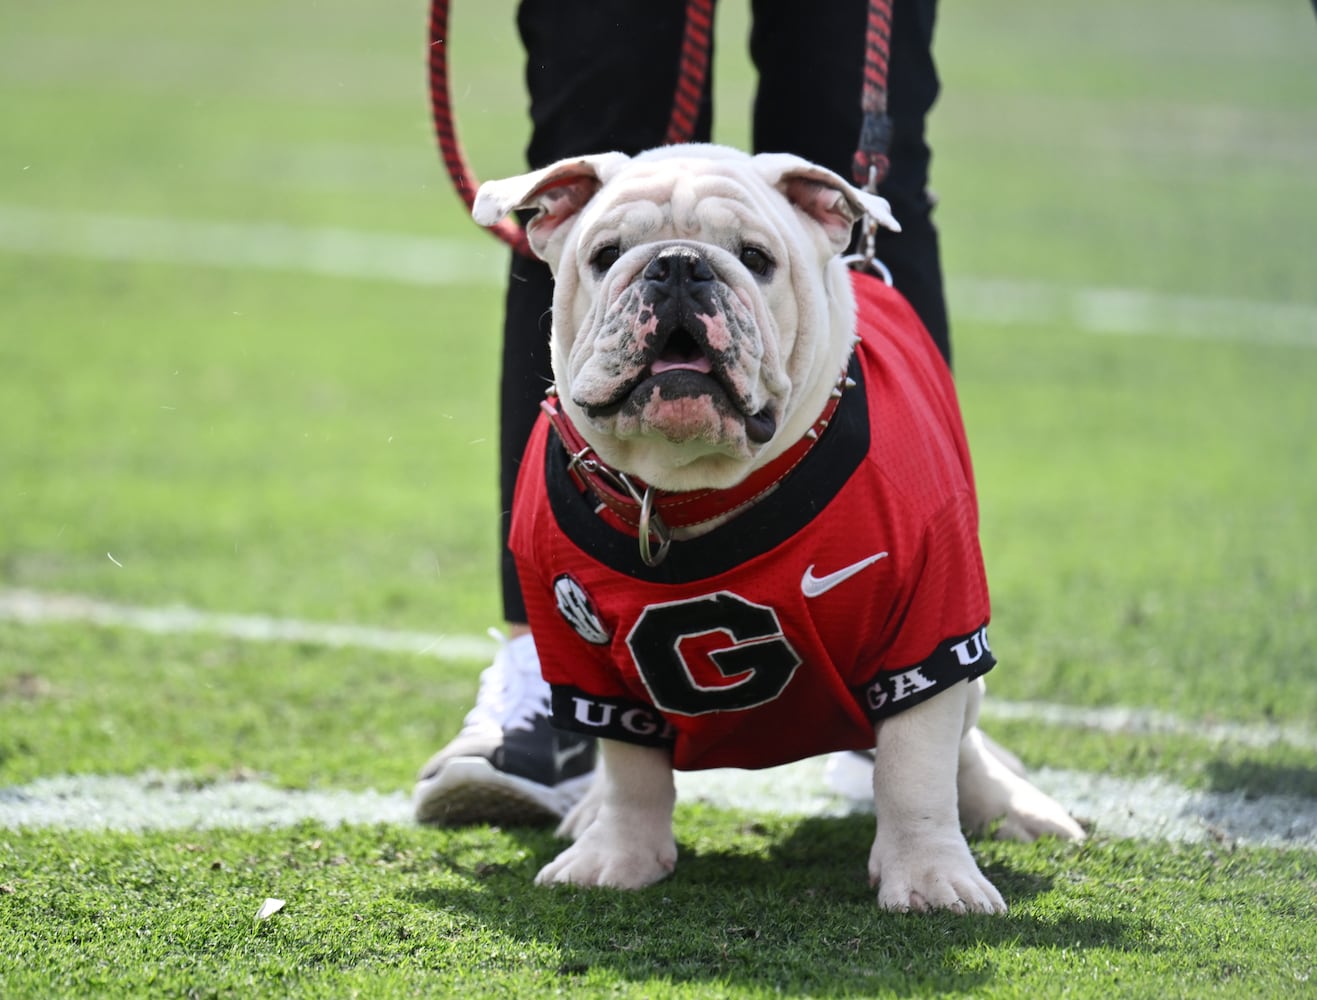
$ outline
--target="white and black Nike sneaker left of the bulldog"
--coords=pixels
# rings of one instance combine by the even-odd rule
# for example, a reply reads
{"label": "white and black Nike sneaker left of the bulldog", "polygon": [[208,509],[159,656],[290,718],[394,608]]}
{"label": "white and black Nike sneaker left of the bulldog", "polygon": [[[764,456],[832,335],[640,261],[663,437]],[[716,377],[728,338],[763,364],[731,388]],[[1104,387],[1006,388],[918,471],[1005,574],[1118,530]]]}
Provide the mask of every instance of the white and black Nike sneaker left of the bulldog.
{"label": "white and black Nike sneaker left of the bulldog", "polygon": [[416,819],[464,826],[556,823],[594,776],[595,742],[549,725],[549,685],[529,635],[504,639],[481,673],[461,733],[420,769]]}

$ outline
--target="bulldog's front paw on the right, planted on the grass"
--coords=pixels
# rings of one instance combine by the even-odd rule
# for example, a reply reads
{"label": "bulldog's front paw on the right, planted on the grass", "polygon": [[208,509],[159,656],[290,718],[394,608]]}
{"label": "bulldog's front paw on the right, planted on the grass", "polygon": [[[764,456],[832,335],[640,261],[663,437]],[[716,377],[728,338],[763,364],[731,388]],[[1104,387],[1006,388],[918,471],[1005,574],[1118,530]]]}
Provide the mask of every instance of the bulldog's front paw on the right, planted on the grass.
{"label": "bulldog's front paw on the right, planted on the grass", "polygon": [[952,913],[1005,913],[1006,903],[984,877],[964,839],[942,847],[886,845],[881,834],[869,852],[869,884],[878,905],[901,913],[948,909]]}

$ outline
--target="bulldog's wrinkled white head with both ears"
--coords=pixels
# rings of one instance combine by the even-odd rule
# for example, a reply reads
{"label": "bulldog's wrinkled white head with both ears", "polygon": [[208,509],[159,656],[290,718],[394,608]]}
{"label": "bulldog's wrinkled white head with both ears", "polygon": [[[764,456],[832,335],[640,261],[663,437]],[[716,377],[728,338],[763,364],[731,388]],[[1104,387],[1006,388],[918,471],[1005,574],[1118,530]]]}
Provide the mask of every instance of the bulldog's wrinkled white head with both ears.
{"label": "bulldog's wrinkled white head with both ears", "polygon": [[481,187],[490,224],[536,208],[554,273],[561,406],[614,468],[669,490],[726,487],[797,441],[851,347],[838,253],[886,202],[785,155],[668,146]]}

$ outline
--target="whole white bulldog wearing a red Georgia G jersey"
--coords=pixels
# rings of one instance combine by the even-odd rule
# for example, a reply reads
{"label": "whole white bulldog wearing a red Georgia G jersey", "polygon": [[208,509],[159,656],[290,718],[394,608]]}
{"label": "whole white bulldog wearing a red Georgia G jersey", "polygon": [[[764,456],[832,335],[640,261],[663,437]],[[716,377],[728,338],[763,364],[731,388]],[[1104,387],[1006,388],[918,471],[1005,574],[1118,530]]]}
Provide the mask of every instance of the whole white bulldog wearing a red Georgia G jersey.
{"label": "whole white bulldog wearing a red Georgia G jersey", "polygon": [[[536,212],[531,246],[556,279],[557,436],[532,439],[514,551],[554,721],[602,736],[598,777],[560,827],[574,843],[537,881],[640,888],[666,876],[674,763],[761,767],[865,747],[880,905],[1004,912],[961,826],[1022,841],[1084,833],[976,726],[994,660],[985,585],[960,582],[981,563],[950,375],[903,300],[863,291],[877,282],[839,257],[865,215],[898,228],[886,202],[792,155],[669,146],[487,182],[473,215],[490,225],[522,208]],[[857,336],[857,287],[889,318],[872,347]],[[892,316],[915,333],[894,333]],[[901,374],[906,357],[922,374]],[[902,397],[900,420],[872,416],[889,414],[886,379],[921,386],[889,393]],[[853,461],[847,435],[864,437]],[[846,462],[857,470],[836,472]],[[552,485],[558,466],[574,487],[565,476]],[[856,495],[865,476],[885,495]],[[843,505],[831,520],[810,513]],[[606,542],[582,540],[589,520],[632,540],[599,555]],[[847,548],[865,544],[869,520],[890,542]],[[943,559],[930,555],[943,520],[968,532],[951,547],[968,569],[950,584],[928,568]],[[792,538],[744,540],[777,523],[809,534],[807,552]],[[768,580],[744,582],[743,545]],[[957,618],[961,593],[975,607]],[[925,628],[943,617],[928,626],[942,632]]]}

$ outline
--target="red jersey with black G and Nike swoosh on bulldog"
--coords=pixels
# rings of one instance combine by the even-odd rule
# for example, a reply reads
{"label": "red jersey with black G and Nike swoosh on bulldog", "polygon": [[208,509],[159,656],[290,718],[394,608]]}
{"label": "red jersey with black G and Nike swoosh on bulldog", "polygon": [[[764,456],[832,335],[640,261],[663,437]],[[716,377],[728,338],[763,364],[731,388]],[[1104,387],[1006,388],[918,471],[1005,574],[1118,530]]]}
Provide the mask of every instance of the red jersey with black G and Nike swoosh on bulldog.
{"label": "red jersey with black G and Nike swoosh on bulldog", "polygon": [[541,415],[511,549],[554,725],[677,768],[873,747],[873,722],[977,677],[988,585],[951,374],[900,294],[853,278],[856,386],[766,501],[645,565]]}

